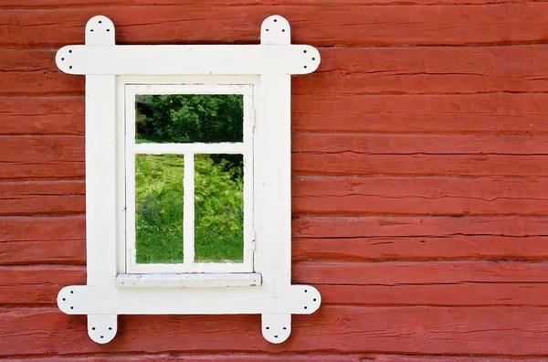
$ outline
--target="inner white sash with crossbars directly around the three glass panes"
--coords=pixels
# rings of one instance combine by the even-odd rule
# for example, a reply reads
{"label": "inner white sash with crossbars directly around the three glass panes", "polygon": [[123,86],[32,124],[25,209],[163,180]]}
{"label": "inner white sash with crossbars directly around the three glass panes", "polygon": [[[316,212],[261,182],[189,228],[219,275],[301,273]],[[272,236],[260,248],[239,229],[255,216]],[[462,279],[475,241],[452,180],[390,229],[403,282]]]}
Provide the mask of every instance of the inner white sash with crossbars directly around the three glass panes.
{"label": "inner white sash with crossbars directly around the three glass panes", "polygon": [[[125,268],[120,272],[128,274],[151,273],[252,273],[253,251],[253,85],[252,84],[140,84],[126,83],[119,85],[125,100]],[[161,94],[241,94],[243,97],[243,140],[239,143],[226,144],[135,144],[135,96]],[[120,99],[121,97],[119,97]],[[121,106],[120,106],[121,107]],[[135,247],[135,156],[137,154],[184,154],[184,217],[183,217],[183,255],[181,263],[148,263],[136,262]],[[244,250],[243,262],[195,262],[195,154],[242,154],[244,158]],[[258,283],[258,275],[240,275],[242,279],[250,278],[249,285]],[[230,282],[233,275],[216,275],[218,285],[223,277]],[[127,277],[123,277],[127,279]],[[174,278],[172,276],[171,278]],[[191,280],[190,276],[184,276]],[[203,276],[200,276],[203,280]]]}

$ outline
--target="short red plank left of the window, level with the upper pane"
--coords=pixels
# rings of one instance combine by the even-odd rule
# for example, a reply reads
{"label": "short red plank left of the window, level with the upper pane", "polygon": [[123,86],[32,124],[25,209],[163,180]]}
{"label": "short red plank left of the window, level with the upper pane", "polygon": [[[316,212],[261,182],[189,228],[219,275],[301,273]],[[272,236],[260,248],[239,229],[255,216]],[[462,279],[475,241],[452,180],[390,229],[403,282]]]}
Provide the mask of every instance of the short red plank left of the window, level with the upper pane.
{"label": "short red plank left of the window, level with the upper pane", "polygon": [[83,134],[83,97],[0,97],[0,135]]}

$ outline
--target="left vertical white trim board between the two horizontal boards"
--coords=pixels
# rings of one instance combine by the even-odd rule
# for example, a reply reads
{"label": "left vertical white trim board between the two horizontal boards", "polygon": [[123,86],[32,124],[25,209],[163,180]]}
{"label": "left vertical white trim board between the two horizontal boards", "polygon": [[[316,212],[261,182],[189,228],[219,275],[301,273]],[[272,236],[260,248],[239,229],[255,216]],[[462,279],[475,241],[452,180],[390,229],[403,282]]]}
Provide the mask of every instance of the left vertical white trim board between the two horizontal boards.
{"label": "left vertical white trim board between the two horizontal boards", "polygon": [[116,276],[114,76],[86,77],[86,254],[89,285]]}

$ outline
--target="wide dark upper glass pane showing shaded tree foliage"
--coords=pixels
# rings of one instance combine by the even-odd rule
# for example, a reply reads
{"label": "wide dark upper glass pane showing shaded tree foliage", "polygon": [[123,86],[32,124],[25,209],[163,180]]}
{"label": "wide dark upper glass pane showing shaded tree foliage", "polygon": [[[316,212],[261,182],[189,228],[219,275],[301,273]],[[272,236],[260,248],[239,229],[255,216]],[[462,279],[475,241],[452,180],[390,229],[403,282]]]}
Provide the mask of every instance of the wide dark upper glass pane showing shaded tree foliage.
{"label": "wide dark upper glass pane showing shaded tree foliage", "polygon": [[135,143],[243,142],[241,94],[135,96]]}

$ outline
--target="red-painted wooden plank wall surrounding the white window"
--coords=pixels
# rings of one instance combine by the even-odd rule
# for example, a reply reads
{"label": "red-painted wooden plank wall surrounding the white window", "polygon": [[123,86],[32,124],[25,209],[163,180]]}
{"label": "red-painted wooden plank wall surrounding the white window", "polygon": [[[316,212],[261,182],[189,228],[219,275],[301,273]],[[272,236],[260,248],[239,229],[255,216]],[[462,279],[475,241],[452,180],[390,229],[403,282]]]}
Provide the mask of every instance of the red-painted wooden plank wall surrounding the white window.
{"label": "red-painted wooden plank wall surrounding the white window", "polygon": [[[290,340],[257,315],[58,311],[85,282],[84,79],[54,55],[111,17],[121,44],[258,43],[269,15],[321,67],[293,80]],[[548,2],[0,0],[0,358],[548,361]],[[32,359],[34,358],[34,359]]]}

